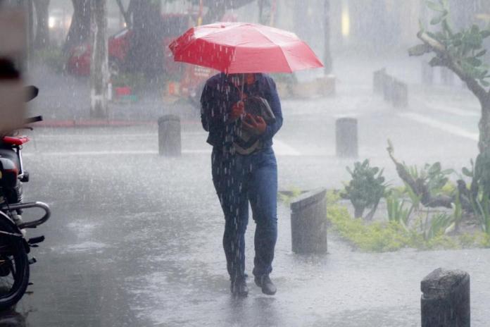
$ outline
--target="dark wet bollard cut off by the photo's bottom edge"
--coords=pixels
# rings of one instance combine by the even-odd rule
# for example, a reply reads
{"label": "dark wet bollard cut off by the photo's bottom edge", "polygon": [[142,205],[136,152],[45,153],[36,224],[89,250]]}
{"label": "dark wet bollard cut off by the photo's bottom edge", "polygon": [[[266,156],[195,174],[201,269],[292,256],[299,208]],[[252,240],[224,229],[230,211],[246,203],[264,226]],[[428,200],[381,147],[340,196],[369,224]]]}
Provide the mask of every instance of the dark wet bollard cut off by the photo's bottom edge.
{"label": "dark wet bollard cut off by the photo's bottom edge", "polygon": [[422,327],[470,327],[470,275],[438,268],[420,283]]}

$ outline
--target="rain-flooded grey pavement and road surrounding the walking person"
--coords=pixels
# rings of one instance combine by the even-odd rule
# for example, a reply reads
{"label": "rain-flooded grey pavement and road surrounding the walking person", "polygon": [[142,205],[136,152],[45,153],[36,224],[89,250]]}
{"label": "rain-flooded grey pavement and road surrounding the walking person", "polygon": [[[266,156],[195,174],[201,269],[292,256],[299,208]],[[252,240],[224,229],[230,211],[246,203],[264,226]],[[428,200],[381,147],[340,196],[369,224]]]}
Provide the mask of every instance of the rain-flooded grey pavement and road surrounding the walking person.
{"label": "rain-flooded grey pavement and road surrounding the walking person", "polygon": [[[384,167],[392,185],[399,180],[385,150],[388,138],[398,159],[411,164],[441,161],[444,168],[460,168],[477,154],[471,135],[450,128],[460,123],[474,133],[471,114],[437,115],[447,108],[438,98],[432,107],[434,99],[413,101],[410,113],[453,125],[410,119],[419,116],[372,96],[372,68],[359,80],[350,78],[359,70],[337,65],[337,97],[283,101],[284,127],[275,145],[279,189],[341,187],[348,179],[345,166],[353,160],[334,156],[340,116],[358,118],[360,159]],[[460,97],[451,103],[477,112],[467,94],[455,94]],[[42,112],[49,101],[39,101]],[[25,196],[48,203],[53,216],[28,231],[46,235],[33,251],[34,285],[15,311],[0,316],[0,326],[420,326],[420,280],[439,266],[470,273],[472,326],[490,325],[490,250],[363,254],[329,232],[329,254],[300,256],[291,252],[283,204],[272,273],[277,295],[262,295],[249,280],[249,297],[232,298],[211,149],[199,123],[182,128],[184,153],[177,159],[158,156],[155,125],[34,130],[25,147],[31,173]],[[253,230],[251,221],[249,273]]]}

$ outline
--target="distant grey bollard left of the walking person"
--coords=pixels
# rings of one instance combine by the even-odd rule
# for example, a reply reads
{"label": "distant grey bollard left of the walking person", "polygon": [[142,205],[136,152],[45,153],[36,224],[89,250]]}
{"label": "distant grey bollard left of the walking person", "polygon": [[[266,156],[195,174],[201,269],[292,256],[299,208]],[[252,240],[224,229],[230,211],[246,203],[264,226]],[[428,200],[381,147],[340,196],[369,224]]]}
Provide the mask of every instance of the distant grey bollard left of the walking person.
{"label": "distant grey bollard left of the walking person", "polygon": [[165,115],[158,118],[158,154],[161,156],[180,156],[180,117]]}

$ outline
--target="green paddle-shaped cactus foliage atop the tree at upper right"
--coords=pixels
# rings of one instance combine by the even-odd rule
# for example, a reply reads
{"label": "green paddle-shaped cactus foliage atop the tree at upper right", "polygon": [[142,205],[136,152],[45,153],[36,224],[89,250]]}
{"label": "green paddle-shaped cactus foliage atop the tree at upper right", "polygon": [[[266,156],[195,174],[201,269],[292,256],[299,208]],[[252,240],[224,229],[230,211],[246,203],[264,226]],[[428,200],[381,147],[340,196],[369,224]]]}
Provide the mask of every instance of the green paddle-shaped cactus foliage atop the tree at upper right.
{"label": "green paddle-shaped cactus foliage atop the tree at upper right", "polygon": [[[451,61],[458,63],[470,78],[479,81],[483,87],[490,86],[490,83],[486,81],[490,77],[488,74],[490,66],[482,61],[482,56],[486,54],[486,49],[482,49],[483,42],[484,39],[490,36],[490,30],[482,30],[475,24],[455,32],[450,23],[448,1],[427,1],[427,7],[436,13],[430,24],[438,26],[439,30],[429,32],[421,25],[420,33],[425,32],[429,37],[442,44],[445,52],[444,55],[437,54],[430,64],[432,66],[444,66],[444,60],[446,59],[444,56],[449,56]],[[409,49],[409,54],[411,56],[421,56],[431,51],[430,47],[422,47],[422,44],[419,44]]]}

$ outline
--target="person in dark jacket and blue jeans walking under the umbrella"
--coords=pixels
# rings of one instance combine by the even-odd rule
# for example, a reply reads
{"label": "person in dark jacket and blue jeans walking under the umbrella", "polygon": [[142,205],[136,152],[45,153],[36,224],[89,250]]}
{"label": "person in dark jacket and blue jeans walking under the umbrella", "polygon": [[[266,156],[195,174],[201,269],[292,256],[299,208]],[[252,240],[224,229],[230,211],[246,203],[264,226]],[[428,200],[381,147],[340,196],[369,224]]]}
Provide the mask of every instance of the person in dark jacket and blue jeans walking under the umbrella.
{"label": "person in dark jacket and blue jeans walking under the umbrella", "polygon": [[[250,110],[253,106],[262,106],[265,113]],[[250,203],[256,222],[254,280],[263,293],[274,295],[270,273],[277,240],[277,162],[272,137],[282,126],[274,80],[263,73],[213,76],[201,95],[201,122],[213,146],[213,184],[225,216],[222,242],[231,292],[249,292],[244,235]]]}

